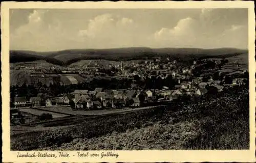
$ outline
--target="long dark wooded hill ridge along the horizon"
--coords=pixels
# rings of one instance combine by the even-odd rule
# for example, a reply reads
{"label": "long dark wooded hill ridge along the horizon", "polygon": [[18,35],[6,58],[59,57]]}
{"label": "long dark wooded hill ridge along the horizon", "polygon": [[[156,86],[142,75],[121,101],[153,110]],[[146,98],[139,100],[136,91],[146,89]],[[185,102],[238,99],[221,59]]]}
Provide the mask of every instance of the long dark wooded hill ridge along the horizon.
{"label": "long dark wooded hill ridge along the horizon", "polygon": [[236,48],[200,49],[200,48],[147,48],[129,47],[112,49],[69,49],[61,51],[23,51],[10,50],[10,62],[29,62],[45,60],[49,63],[68,66],[80,60],[104,59],[111,61],[152,59],[153,57],[169,57],[179,61],[195,58],[226,58],[246,53],[248,50]]}

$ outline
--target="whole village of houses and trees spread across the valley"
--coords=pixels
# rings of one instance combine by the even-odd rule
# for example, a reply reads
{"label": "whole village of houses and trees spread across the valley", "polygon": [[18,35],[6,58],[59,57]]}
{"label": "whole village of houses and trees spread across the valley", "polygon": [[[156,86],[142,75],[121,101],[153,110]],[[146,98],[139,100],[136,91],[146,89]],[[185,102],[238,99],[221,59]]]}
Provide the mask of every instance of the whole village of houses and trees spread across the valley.
{"label": "whole village of houses and trees spread across the valley", "polygon": [[[56,107],[63,107],[63,110],[69,107],[72,111],[87,112],[91,110],[157,106],[175,101],[182,96],[191,98],[193,96],[202,96],[206,93],[222,92],[234,86],[248,85],[248,71],[237,68],[238,66],[233,66],[233,69],[223,69],[223,66],[227,66],[227,62],[224,59],[208,59],[194,61],[190,66],[184,66],[177,63],[176,60],[170,61],[169,58],[165,60],[155,58],[152,61],[140,61],[136,64],[135,62],[126,63],[126,65],[123,62],[119,62],[117,65],[110,64],[108,65],[112,70],[110,76],[132,79],[131,87],[126,89],[106,89],[103,87],[93,90],[74,89],[66,94],[52,96],[48,93],[50,84],[45,86],[44,91],[40,91],[42,87],[39,87],[36,96],[15,95],[13,100],[11,99],[10,101],[10,105],[13,106],[11,119],[20,118],[22,117],[21,115],[32,114],[38,117],[44,113],[52,114],[52,112],[55,112]],[[94,66],[98,66],[98,64],[94,64]],[[97,74],[100,67],[102,66],[90,70],[87,67],[87,75],[102,76],[102,74]],[[52,75],[60,71],[58,69],[53,72],[53,69],[55,70],[53,67],[49,69]],[[64,70],[61,71],[63,72]],[[86,74],[83,73],[81,75],[84,76]],[[103,75],[106,74],[103,73]],[[159,83],[159,80],[162,82]],[[145,86],[145,84],[144,88],[141,87],[143,82],[148,83],[148,81],[150,81],[150,86]],[[41,110],[42,112],[33,110]],[[65,113],[68,112],[69,110]],[[58,115],[49,117],[54,118],[58,117]]]}

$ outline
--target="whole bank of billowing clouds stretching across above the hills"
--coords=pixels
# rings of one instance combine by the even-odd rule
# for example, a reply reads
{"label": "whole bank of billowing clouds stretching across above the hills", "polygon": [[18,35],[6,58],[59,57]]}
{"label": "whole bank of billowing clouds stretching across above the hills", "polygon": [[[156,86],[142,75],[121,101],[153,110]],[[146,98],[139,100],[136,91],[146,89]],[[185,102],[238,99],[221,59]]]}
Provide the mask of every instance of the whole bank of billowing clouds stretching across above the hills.
{"label": "whole bank of billowing clouds stretching across above the hills", "polygon": [[[132,19],[127,15],[113,14],[98,15],[91,19],[76,19],[74,16],[70,18],[72,21],[66,21],[65,16],[53,16],[51,10],[34,10],[27,16],[27,23],[11,33],[10,48],[36,51],[131,46],[246,48],[246,16],[237,20],[239,15],[233,16],[236,12],[202,9],[197,16],[183,17],[176,23],[172,19],[170,23],[159,25],[147,17],[145,22],[148,22],[142,23],[135,17]],[[246,15],[246,12],[239,10],[239,14]],[[149,25],[154,28],[148,28]]]}

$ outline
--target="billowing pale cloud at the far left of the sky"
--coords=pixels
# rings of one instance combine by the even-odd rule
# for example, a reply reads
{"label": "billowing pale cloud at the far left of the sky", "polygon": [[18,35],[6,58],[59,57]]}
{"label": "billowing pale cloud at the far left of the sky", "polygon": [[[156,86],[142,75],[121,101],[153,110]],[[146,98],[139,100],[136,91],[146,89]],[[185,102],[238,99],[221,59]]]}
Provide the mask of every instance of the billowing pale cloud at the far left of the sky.
{"label": "billowing pale cloud at the far left of the sky", "polygon": [[[44,21],[46,10],[34,10],[28,15],[28,22],[19,26],[10,35],[11,49],[45,50],[56,45],[61,35],[60,22],[56,20],[52,24]],[[56,38],[53,38],[56,36]]]}

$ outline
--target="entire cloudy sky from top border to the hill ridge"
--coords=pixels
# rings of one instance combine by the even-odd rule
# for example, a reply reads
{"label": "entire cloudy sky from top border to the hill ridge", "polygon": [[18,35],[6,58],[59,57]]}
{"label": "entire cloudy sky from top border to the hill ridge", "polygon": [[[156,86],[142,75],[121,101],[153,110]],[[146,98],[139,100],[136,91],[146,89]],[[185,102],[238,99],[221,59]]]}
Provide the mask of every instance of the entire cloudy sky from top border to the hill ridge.
{"label": "entire cloudy sky from top border to the hill ridge", "polygon": [[247,9],[12,9],[10,49],[247,49]]}

